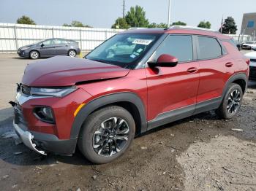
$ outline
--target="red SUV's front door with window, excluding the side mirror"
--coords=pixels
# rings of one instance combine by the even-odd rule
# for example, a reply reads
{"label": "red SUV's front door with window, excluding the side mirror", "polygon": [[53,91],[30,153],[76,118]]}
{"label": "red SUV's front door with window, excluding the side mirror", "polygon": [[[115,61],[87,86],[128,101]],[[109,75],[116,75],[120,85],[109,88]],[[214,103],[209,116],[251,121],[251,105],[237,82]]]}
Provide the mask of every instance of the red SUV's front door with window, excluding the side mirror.
{"label": "red SUV's front door with window, excluding the side mirror", "polygon": [[188,117],[195,111],[199,82],[198,63],[191,35],[171,34],[149,61],[159,55],[178,58],[175,67],[146,68],[148,85],[148,129]]}

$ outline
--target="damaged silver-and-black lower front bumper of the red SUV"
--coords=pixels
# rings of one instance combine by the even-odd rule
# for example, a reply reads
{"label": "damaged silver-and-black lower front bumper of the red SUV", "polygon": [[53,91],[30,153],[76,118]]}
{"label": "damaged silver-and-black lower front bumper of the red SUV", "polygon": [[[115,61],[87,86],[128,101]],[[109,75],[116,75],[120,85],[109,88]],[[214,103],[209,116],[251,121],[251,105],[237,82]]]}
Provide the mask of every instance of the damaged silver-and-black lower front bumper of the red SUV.
{"label": "damaged silver-and-black lower front bumper of the red SUV", "polygon": [[47,155],[47,152],[72,155],[75,152],[77,139],[60,140],[51,134],[29,131],[25,125],[18,125],[15,122],[13,122],[13,127],[23,144],[41,155]]}

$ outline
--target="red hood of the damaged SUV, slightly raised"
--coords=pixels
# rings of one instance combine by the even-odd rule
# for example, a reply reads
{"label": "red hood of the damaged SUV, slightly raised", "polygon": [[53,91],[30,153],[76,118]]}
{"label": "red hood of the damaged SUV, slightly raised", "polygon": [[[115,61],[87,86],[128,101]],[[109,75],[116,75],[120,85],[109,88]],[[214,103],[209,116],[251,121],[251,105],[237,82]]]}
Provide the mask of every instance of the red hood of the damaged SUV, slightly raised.
{"label": "red hood of the damaged SUV, slightly raised", "polygon": [[82,58],[56,56],[26,66],[22,83],[32,87],[60,87],[78,82],[124,77],[129,69]]}

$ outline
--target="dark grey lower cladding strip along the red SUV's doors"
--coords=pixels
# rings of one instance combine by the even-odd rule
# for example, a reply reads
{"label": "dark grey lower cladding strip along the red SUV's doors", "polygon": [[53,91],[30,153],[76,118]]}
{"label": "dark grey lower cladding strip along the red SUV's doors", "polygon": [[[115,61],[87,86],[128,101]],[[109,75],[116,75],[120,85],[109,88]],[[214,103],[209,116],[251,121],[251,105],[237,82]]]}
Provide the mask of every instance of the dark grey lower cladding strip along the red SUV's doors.
{"label": "dark grey lower cladding strip along the red SUV's doors", "polygon": [[186,117],[190,117],[194,114],[199,114],[202,112],[210,111],[211,109],[217,109],[222,102],[222,98],[213,98],[208,101],[203,101],[198,104],[193,104],[190,106],[185,106],[180,109],[175,109],[169,112],[165,112],[157,115],[154,120],[148,121],[147,130],[151,130],[153,128],[157,128],[161,125],[165,125],[170,122],[174,122],[176,120],[181,120]]}

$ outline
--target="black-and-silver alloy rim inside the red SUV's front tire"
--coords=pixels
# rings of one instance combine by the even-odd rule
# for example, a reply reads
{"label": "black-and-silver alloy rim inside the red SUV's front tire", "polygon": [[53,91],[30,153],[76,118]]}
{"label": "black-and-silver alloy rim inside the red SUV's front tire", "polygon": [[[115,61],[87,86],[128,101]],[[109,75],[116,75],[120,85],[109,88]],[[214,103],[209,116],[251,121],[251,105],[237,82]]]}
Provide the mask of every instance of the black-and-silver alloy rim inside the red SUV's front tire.
{"label": "black-and-silver alloy rim inside the red SUV's front tire", "polygon": [[111,157],[120,152],[128,141],[129,126],[121,117],[111,117],[94,132],[93,148],[101,156]]}

